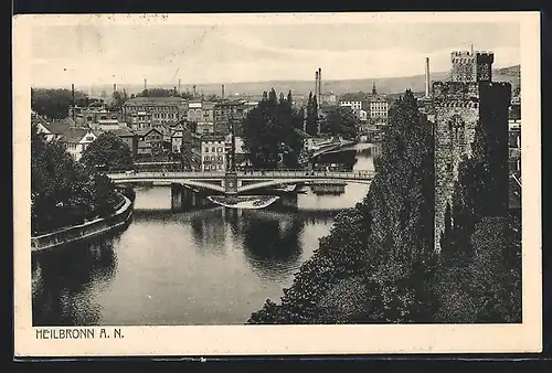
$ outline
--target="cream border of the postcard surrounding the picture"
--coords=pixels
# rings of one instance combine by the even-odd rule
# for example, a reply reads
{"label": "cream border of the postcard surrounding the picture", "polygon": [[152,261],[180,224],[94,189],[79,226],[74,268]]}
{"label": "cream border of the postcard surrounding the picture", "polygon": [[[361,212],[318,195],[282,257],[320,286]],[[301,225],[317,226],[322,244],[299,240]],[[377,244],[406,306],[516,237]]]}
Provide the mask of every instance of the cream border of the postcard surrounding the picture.
{"label": "cream border of the postcard surrounding the picture", "polygon": [[[522,324],[123,327],[124,339],[40,340],[31,322],[30,40],[33,24],[520,22],[522,90]],[[501,353],[542,349],[540,14],[65,14],[13,18],[14,352],[17,356],[335,353]],[[55,328],[49,328],[55,329]],[[96,329],[96,333],[102,328]],[[107,328],[113,330],[113,328]]]}

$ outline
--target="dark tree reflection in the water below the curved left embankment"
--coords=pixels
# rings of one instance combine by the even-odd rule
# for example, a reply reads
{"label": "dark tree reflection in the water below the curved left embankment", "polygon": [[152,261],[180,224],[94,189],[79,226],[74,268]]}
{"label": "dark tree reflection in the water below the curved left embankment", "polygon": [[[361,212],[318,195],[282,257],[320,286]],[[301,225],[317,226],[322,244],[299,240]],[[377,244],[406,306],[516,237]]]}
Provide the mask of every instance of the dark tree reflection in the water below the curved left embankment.
{"label": "dark tree reflection in the water below the curved left embankment", "polygon": [[32,256],[33,326],[92,326],[102,309],[89,294],[109,285],[117,270],[112,237]]}

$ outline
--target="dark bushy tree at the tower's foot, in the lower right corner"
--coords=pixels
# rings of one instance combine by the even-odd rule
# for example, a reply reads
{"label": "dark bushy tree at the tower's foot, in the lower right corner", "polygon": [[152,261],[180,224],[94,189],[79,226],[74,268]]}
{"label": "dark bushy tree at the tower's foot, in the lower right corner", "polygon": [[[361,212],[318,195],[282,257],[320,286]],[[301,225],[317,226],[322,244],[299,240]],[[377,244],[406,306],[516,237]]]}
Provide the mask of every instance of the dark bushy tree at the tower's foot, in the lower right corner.
{"label": "dark bushy tree at the tower's foot, in the lower right corner", "polygon": [[474,254],[445,266],[436,279],[435,321],[521,322],[521,259],[506,260],[516,249],[507,219],[482,217],[469,239]]}

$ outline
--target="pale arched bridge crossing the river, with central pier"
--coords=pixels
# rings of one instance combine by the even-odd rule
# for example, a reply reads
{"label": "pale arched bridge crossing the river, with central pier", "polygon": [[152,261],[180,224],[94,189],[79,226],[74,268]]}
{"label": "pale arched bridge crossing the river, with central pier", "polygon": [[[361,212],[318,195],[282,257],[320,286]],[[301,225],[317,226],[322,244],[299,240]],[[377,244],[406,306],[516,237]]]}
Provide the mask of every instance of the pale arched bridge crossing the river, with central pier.
{"label": "pale arched bridge crossing the river, with central pier", "polygon": [[282,184],[304,182],[344,181],[349,183],[370,184],[374,171],[310,171],[310,170],[255,170],[236,172],[123,172],[107,173],[116,184],[132,184],[145,182],[162,182],[181,184],[209,190],[222,194],[241,194],[244,192],[270,188]]}

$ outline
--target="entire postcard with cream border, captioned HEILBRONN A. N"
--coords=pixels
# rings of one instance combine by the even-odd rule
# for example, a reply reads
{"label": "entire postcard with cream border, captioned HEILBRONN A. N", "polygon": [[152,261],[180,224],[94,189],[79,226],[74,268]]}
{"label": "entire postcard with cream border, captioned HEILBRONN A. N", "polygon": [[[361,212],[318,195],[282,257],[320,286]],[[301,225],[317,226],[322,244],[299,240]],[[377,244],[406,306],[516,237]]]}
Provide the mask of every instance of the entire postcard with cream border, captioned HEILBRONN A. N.
{"label": "entire postcard with cream border, captioned HEILBRONN A. N", "polygon": [[22,18],[25,343],[529,323],[538,349],[539,14],[424,14]]}

